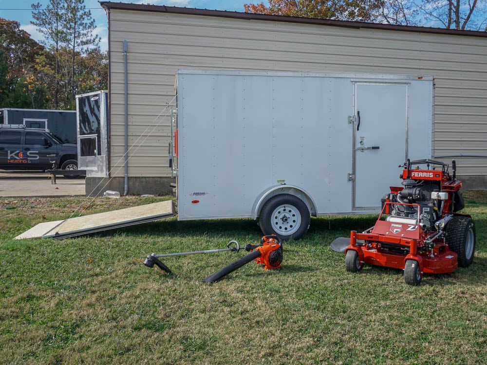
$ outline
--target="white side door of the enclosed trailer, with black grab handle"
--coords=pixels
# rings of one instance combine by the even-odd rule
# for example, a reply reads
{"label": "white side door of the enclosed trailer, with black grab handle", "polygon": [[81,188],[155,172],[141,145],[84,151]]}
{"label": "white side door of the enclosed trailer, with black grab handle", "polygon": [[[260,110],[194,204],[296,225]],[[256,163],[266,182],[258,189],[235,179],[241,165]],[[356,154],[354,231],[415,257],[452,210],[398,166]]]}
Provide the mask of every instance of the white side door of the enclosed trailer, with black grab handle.
{"label": "white side door of the enclosed trailer, with black grab handle", "polygon": [[408,148],[408,83],[356,82],[354,210],[380,206]]}

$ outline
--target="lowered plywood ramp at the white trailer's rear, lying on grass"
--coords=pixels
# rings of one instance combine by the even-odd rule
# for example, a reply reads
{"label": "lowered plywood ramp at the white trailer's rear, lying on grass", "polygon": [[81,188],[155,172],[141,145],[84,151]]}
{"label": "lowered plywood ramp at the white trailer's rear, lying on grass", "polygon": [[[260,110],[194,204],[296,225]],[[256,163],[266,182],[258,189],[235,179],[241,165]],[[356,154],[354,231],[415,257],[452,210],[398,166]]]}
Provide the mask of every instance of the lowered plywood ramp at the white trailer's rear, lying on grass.
{"label": "lowered plywood ramp at the white trailer's rear, lying on grass", "polygon": [[15,239],[82,236],[89,233],[174,217],[174,215],[173,202],[161,201],[88,216],[39,223],[35,227],[15,237]]}

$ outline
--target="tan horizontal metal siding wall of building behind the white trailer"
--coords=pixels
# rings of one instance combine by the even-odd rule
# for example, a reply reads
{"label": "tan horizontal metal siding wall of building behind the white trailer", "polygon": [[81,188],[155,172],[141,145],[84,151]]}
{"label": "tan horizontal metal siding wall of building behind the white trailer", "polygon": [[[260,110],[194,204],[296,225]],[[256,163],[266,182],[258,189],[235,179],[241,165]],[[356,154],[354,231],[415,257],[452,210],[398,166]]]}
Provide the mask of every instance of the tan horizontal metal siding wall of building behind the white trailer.
{"label": "tan horizontal metal siding wall of building behind the white trailer", "polygon": [[[486,32],[101,5],[109,22],[111,186],[124,179],[127,45],[129,193],[168,191],[169,112],[178,68],[431,75],[433,156],[487,155]],[[486,157],[455,159],[467,187],[487,187]],[[98,183],[91,179],[87,190]]]}

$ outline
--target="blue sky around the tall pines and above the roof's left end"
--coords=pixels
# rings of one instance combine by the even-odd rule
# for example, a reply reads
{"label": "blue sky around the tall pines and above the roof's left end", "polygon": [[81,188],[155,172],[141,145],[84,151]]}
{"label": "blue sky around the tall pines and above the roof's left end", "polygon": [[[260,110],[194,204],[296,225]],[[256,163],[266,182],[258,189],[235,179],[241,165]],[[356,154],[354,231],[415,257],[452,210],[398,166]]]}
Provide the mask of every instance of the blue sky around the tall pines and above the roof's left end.
{"label": "blue sky around the tall pines and above the roof's left end", "polygon": [[[244,11],[244,3],[257,3],[262,0],[113,0],[113,2],[145,3],[153,5],[186,6],[198,9],[217,9],[230,11]],[[0,18],[17,20],[20,28],[25,30],[37,41],[42,37],[30,22],[32,19],[32,3],[47,5],[49,0],[0,0]],[[267,3],[267,1],[264,1]],[[108,49],[108,22],[105,10],[100,6],[98,0],[85,0],[85,5],[90,9],[95,19],[95,33],[101,37],[100,46],[103,51]]]}

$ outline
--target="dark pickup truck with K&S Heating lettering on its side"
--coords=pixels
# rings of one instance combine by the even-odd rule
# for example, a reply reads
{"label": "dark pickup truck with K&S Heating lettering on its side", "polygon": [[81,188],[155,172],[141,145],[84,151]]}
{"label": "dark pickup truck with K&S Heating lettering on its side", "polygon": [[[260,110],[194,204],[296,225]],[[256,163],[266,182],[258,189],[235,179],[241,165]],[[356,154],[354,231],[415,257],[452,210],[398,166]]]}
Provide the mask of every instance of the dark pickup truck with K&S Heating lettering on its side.
{"label": "dark pickup truck with K&S Heating lettering on its side", "polygon": [[0,124],[0,169],[77,170],[77,147],[48,130]]}

